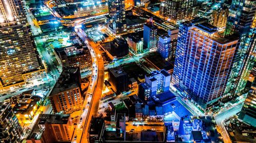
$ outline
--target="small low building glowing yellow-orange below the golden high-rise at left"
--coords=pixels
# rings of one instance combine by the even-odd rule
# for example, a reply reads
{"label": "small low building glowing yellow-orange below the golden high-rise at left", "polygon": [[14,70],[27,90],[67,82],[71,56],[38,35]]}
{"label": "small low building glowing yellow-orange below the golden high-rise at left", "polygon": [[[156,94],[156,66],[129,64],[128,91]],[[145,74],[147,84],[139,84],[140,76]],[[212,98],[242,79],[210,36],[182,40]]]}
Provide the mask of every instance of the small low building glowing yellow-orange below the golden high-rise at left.
{"label": "small low building glowing yellow-orange below the golden high-rise at left", "polygon": [[40,97],[32,96],[31,98],[19,99],[14,106],[15,115],[20,123],[20,125],[31,124],[34,116],[39,109]]}

